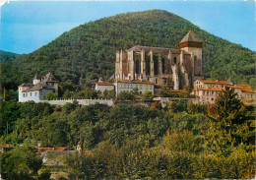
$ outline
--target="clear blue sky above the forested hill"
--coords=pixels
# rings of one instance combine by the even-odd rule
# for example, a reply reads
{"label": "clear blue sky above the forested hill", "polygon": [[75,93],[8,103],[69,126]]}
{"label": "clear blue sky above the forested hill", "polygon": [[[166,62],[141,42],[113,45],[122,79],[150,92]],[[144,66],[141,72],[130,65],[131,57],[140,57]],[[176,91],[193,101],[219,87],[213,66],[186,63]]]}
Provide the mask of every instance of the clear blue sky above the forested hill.
{"label": "clear blue sky above the forested hill", "polygon": [[0,49],[31,53],[65,31],[100,18],[152,9],[256,51],[255,1],[10,1],[0,8]]}

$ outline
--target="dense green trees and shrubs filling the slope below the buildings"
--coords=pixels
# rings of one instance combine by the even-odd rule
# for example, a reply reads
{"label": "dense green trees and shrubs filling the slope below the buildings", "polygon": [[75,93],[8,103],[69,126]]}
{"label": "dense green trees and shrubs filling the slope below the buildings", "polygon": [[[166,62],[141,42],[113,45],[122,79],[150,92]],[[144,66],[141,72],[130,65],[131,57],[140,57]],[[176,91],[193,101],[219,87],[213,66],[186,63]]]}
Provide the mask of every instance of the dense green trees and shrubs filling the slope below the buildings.
{"label": "dense green trees and shrubs filling the slope below the buildings", "polygon": [[[207,112],[184,101],[164,108],[5,101],[1,122],[9,121],[10,129],[2,127],[1,142],[68,150],[80,145],[82,151],[57,164],[71,179],[250,179],[255,177],[252,109],[235,95],[223,91]],[[21,147],[4,153],[5,177],[41,177],[32,152]]]}

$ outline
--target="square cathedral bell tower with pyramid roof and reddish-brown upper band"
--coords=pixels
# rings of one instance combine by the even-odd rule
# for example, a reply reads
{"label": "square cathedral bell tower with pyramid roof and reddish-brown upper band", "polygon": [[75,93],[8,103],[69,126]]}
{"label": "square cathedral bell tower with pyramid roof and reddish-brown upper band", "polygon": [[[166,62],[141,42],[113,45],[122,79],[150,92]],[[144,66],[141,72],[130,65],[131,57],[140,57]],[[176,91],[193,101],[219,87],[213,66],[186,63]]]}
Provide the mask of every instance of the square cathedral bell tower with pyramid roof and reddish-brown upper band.
{"label": "square cathedral bell tower with pyramid roof and reddish-brown upper band", "polygon": [[203,79],[202,71],[202,48],[203,40],[193,31],[189,32],[179,42],[180,50],[184,50],[191,54],[191,63],[193,67],[193,82]]}

